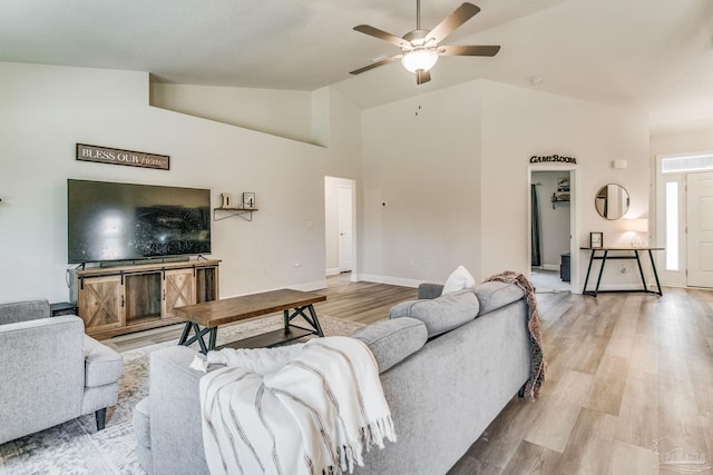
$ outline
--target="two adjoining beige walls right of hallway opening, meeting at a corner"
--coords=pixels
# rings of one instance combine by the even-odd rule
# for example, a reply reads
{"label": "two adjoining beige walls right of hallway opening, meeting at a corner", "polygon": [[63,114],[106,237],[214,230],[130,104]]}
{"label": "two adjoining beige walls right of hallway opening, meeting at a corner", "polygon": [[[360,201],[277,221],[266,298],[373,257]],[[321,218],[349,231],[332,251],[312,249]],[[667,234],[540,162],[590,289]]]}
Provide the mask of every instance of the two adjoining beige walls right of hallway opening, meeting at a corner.
{"label": "two adjoining beige walls right of hallway opening, meeting at a corner", "polygon": [[[442,281],[459,264],[477,279],[527,273],[529,172],[551,169],[530,167],[533,155],[577,158],[576,245],[587,244],[589,231],[614,244],[623,225],[600,218],[594,196],[619,182],[632,195],[632,216],[646,214],[647,127],[638,111],[490,81],[364,111],[361,270],[409,283]],[[628,168],[611,168],[615,159],[627,159]],[[390,206],[378,206],[381,199]]]}

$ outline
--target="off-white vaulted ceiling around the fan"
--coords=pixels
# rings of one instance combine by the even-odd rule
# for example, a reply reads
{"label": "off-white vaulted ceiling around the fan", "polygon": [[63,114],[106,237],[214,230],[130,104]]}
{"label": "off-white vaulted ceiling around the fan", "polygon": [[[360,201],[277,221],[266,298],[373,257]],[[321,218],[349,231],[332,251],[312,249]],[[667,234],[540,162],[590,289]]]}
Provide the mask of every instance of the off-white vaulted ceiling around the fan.
{"label": "off-white vaulted ceiling around the fan", "polygon": [[[422,0],[422,27],[460,1]],[[139,70],[187,85],[334,86],[362,108],[486,78],[641,108],[653,127],[713,119],[711,0],[471,1],[480,13],[446,43],[500,52],[442,57],[419,87],[398,61],[349,75],[398,52],[352,28],[400,37],[416,28],[416,0],[6,0],[0,61]]]}

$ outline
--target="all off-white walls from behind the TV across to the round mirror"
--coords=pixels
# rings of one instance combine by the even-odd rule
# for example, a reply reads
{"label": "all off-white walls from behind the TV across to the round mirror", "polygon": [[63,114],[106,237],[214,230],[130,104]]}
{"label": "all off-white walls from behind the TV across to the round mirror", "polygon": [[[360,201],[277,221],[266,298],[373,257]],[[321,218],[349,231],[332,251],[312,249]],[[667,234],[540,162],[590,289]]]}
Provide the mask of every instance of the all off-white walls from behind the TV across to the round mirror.
{"label": "all off-white walls from behind the TV across to the round mirror", "polygon": [[[67,178],[206,187],[214,206],[255,191],[252,222],[213,226],[223,296],[324,285],[325,176],[358,184],[355,275],[406,285],[461,264],[479,279],[529,268],[531,155],[578,159],[577,244],[622,235],[592,205],[606,182],[629,190],[632,217],[648,209],[647,123],[616,107],[473,81],[360,113],[326,88],[303,129],[314,146],[152,107],[143,72],[0,63],[0,300],[67,298]],[[169,155],[172,168],[77,161],[77,142]]]}

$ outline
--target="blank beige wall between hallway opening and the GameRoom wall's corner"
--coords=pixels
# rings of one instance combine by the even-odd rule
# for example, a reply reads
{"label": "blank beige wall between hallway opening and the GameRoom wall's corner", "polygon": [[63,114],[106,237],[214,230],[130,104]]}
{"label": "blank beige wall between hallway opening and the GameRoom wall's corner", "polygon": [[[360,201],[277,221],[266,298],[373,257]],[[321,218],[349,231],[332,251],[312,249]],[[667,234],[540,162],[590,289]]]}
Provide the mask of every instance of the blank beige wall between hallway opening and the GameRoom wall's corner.
{"label": "blank beige wall between hallway opening and the GameRoom wall's corner", "polygon": [[362,278],[417,285],[478,270],[479,100],[468,83],[362,113]]}

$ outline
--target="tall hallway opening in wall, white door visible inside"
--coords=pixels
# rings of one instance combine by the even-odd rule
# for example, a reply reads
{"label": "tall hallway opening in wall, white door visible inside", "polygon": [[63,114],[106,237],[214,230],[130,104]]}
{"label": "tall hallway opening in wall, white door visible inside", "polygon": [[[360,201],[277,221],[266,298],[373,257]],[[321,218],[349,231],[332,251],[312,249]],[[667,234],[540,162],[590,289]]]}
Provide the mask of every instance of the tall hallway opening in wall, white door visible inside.
{"label": "tall hallway opening in wall, white door visible inside", "polygon": [[325,275],[351,273],[355,263],[354,180],[324,177]]}

